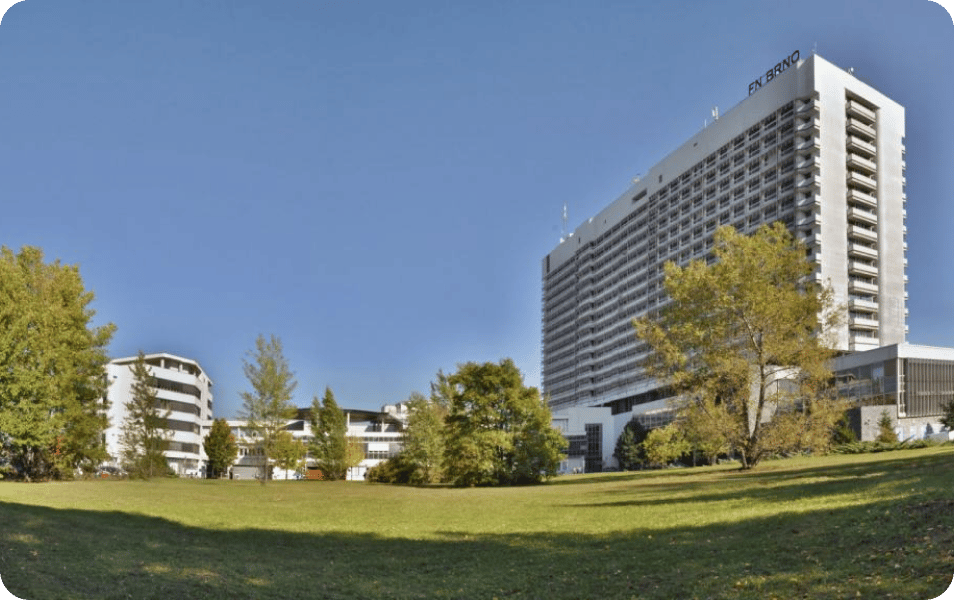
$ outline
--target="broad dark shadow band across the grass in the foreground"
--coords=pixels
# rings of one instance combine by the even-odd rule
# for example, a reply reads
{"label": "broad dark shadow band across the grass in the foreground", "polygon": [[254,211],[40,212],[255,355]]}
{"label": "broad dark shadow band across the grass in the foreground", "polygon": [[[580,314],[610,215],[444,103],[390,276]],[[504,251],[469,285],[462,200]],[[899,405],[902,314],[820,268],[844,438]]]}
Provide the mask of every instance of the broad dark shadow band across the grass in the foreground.
{"label": "broad dark shadow band across the grass in the foreground", "polygon": [[[303,515],[307,518],[307,515]],[[664,533],[210,530],[0,503],[0,579],[45,598],[932,599],[954,573],[954,500]]]}

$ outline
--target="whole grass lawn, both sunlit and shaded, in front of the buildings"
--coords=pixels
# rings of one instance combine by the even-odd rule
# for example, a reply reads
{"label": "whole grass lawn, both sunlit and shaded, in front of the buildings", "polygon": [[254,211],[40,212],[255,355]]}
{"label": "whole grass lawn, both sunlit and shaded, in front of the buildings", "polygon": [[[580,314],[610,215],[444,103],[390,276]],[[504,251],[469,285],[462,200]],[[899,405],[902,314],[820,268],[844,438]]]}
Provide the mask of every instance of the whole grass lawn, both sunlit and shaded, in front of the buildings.
{"label": "whole grass lawn, both sunlit and shaded, in front of the buildings", "polygon": [[952,577],[951,445],[505,489],[0,482],[23,600],[927,600]]}

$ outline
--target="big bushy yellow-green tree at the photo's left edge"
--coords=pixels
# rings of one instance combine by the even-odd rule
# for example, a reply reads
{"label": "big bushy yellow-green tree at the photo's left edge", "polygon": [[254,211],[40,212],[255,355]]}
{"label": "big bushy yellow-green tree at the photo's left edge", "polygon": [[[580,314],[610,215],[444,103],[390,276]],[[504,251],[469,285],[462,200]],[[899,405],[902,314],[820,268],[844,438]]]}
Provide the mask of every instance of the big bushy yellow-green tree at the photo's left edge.
{"label": "big bushy yellow-green tree at the photo's left edge", "polygon": [[93,327],[79,268],[0,247],[0,457],[28,481],[107,458],[104,368],[116,327]]}

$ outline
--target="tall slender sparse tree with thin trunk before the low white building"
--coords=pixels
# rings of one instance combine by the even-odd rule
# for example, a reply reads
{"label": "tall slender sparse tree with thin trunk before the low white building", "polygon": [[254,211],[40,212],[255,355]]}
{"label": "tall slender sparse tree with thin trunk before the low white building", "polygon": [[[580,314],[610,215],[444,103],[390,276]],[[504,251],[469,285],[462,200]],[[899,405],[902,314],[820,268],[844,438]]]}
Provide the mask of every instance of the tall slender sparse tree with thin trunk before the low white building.
{"label": "tall slender sparse tree with thin trunk before the low white building", "polygon": [[261,481],[264,484],[271,478],[271,461],[275,456],[278,434],[296,414],[291,399],[298,382],[288,368],[281,340],[274,335],[267,341],[259,335],[255,340],[255,352],[249,352],[248,357],[251,360],[243,363],[252,391],[240,394],[244,401],[242,418],[260,445]]}

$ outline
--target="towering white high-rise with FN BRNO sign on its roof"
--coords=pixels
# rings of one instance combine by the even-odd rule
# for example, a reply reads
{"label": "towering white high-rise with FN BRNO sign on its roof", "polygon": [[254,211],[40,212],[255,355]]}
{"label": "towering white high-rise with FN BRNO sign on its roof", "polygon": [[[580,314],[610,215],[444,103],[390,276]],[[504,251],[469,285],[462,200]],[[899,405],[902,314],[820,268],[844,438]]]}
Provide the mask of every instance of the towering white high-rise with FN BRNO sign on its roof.
{"label": "towering white high-rise with FN BRNO sign on its roof", "polygon": [[613,414],[660,400],[633,317],[666,302],[663,265],[711,260],[721,225],[783,222],[848,318],[837,348],[905,341],[904,108],[795,52],[543,259],[550,406]]}

